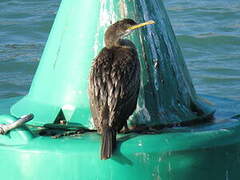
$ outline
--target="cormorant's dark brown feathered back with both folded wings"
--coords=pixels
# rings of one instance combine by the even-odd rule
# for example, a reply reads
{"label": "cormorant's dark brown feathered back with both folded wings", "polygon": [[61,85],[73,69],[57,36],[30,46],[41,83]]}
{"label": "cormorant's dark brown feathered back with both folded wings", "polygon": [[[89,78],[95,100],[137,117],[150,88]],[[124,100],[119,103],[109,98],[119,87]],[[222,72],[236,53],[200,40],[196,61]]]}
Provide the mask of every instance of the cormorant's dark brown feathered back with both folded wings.
{"label": "cormorant's dark brown feathered back with both folded wings", "polygon": [[90,107],[95,126],[121,129],[133,113],[139,92],[140,65],[133,49],[108,50],[96,57],[89,82]]}

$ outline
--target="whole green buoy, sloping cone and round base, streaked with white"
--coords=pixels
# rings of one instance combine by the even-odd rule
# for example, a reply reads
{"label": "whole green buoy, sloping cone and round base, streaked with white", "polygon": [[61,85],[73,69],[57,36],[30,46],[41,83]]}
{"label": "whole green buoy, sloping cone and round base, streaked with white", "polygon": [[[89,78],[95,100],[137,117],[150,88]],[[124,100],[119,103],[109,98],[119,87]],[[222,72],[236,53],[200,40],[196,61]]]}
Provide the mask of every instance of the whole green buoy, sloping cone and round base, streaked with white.
{"label": "whole green buoy, sloping cone and round base, streaked with white", "polygon": [[[32,124],[36,125],[53,122],[63,109],[68,122],[89,127],[91,61],[103,47],[109,20],[123,17],[157,22],[131,36],[142,65],[141,92],[132,122],[165,124],[194,119],[190,101],[204,114],[212,113],[195,93],[160,0],[63,0],[29,94],[12,107],[12,114],[34,113]],[[0,112],[6,113],[2,107],[11,102],[1,101]],[[0,123],[14,120],[12,115],[0,116]],[[239,130],[236,119],[166,129],[155,135],[119,135],[113,157],[101,161],[96,133],[53,139],[39,136],[33,126],[22,127],[0,136],[1,178],[238,179]]]}

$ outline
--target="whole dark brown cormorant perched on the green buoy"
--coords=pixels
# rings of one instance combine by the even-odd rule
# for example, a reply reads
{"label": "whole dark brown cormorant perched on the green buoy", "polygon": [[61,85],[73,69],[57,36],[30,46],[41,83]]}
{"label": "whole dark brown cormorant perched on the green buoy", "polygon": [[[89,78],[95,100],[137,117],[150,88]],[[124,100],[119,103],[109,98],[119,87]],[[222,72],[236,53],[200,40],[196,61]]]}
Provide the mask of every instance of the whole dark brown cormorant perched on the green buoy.
{"label": "whole dark brown cormorant perched on the green buoy", "polygon": [[134,44],[122,39],[133,30],[154,21],[137,24],[123,19],[105,32],[105,47],[95,58],[90,72],[89,98],[94,125],[102,135],[101,159],[111,157],[116,133],[134,112],[140,87],[140,63]]}

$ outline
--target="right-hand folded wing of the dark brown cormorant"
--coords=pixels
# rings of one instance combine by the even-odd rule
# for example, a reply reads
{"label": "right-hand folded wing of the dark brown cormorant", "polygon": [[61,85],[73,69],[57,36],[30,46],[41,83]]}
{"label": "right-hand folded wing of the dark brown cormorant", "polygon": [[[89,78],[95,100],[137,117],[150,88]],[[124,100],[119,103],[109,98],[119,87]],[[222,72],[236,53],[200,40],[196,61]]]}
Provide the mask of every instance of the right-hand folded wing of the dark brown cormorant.
{"label": "right-hand folded wing of the dark brown cormorant", "polygon": [[[140,86],[140,65],[134,49],[121,49],[114,54],[110,79],[109,123],[120,123],[118,126],[122,127],[136,108]],[[115,119],[119,120],[115,122]]]}

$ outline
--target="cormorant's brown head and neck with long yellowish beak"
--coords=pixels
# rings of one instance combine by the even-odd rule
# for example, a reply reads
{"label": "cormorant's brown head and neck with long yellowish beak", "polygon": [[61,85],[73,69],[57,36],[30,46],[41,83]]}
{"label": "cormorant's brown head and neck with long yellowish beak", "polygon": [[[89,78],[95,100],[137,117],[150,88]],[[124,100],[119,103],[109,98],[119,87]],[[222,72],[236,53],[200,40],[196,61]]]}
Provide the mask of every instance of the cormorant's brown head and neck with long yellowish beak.
{"label": "cormorant's brown head and neck with long yellowish beak", "polygon": [[122,19],[120,21],[117,21],[116,23],[109,26],[107,31],[105,32],[106,47],[112,47],[114,45],[117,45],[120,39],[129,35],[132,31],[149,24],[155,24],[155,22],[147,21],[138,24],[132,19]]}

